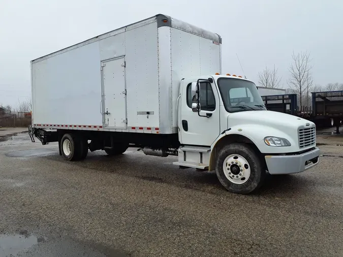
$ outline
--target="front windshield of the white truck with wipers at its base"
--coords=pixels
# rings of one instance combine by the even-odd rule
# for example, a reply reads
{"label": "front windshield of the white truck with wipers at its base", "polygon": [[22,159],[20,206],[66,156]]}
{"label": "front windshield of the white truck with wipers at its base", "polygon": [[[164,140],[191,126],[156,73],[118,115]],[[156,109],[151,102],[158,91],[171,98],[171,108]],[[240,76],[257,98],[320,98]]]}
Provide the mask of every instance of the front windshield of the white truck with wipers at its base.
{"label": "front windshield of the white truck with wipers at its base", "polygon": [[228,112],[267,110],[256,85],[251,81],[220,78],[218,86]]}

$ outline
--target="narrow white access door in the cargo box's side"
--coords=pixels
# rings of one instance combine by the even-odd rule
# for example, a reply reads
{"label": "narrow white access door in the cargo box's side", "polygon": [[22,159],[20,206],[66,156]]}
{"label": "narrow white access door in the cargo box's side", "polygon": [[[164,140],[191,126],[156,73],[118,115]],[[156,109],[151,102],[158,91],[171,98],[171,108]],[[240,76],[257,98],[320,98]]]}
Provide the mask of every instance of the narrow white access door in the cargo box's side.
{"label": "narrow white access door in the cargo box's side", "polygon": [[101,62],[104,127],[127,128],[124,56]]}

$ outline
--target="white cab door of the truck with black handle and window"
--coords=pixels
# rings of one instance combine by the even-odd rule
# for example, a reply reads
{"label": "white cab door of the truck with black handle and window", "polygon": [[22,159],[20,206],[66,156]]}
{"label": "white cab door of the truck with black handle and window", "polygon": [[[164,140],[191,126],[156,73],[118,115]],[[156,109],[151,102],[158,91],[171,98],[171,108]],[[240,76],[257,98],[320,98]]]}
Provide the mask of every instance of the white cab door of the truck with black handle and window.
{"label": "white cab door of the truck with black handle and window", "polygon": [[[179,138],[183,145],[210,146],[220,134],[220,101],[214,82],[200,82],[200,115],[192,111],[192,82],[183,80]],[[202,117],[202,116],[210,117]]]}

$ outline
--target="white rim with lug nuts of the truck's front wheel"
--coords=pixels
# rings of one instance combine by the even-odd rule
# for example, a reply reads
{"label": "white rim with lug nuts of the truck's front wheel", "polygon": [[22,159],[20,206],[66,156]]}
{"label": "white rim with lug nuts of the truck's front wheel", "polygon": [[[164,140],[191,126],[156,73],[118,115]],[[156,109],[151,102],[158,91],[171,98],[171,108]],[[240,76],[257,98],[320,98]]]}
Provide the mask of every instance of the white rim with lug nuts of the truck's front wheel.
{"label": "white rim with lug nuts of the truck's front wheel", "polygon": [[239,154],[225,158],[223,170],[226,178],[234,184],[244,184],[250,177],[251,169],[247,160]]}

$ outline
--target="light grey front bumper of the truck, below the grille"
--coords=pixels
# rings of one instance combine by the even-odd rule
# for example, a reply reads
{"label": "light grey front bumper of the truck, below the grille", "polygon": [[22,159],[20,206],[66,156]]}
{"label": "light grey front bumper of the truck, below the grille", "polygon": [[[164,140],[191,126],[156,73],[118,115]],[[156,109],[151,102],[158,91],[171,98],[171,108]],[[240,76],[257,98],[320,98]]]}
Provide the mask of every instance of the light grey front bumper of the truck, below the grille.
{"label": "light grey front bumper of the truck, below the grille", "polygon": [[[270,174],[293,174],[315,167],[319,163],[320,149],[296,155],[266,155]],[[310,162],[308,162],[310,160]]]}

